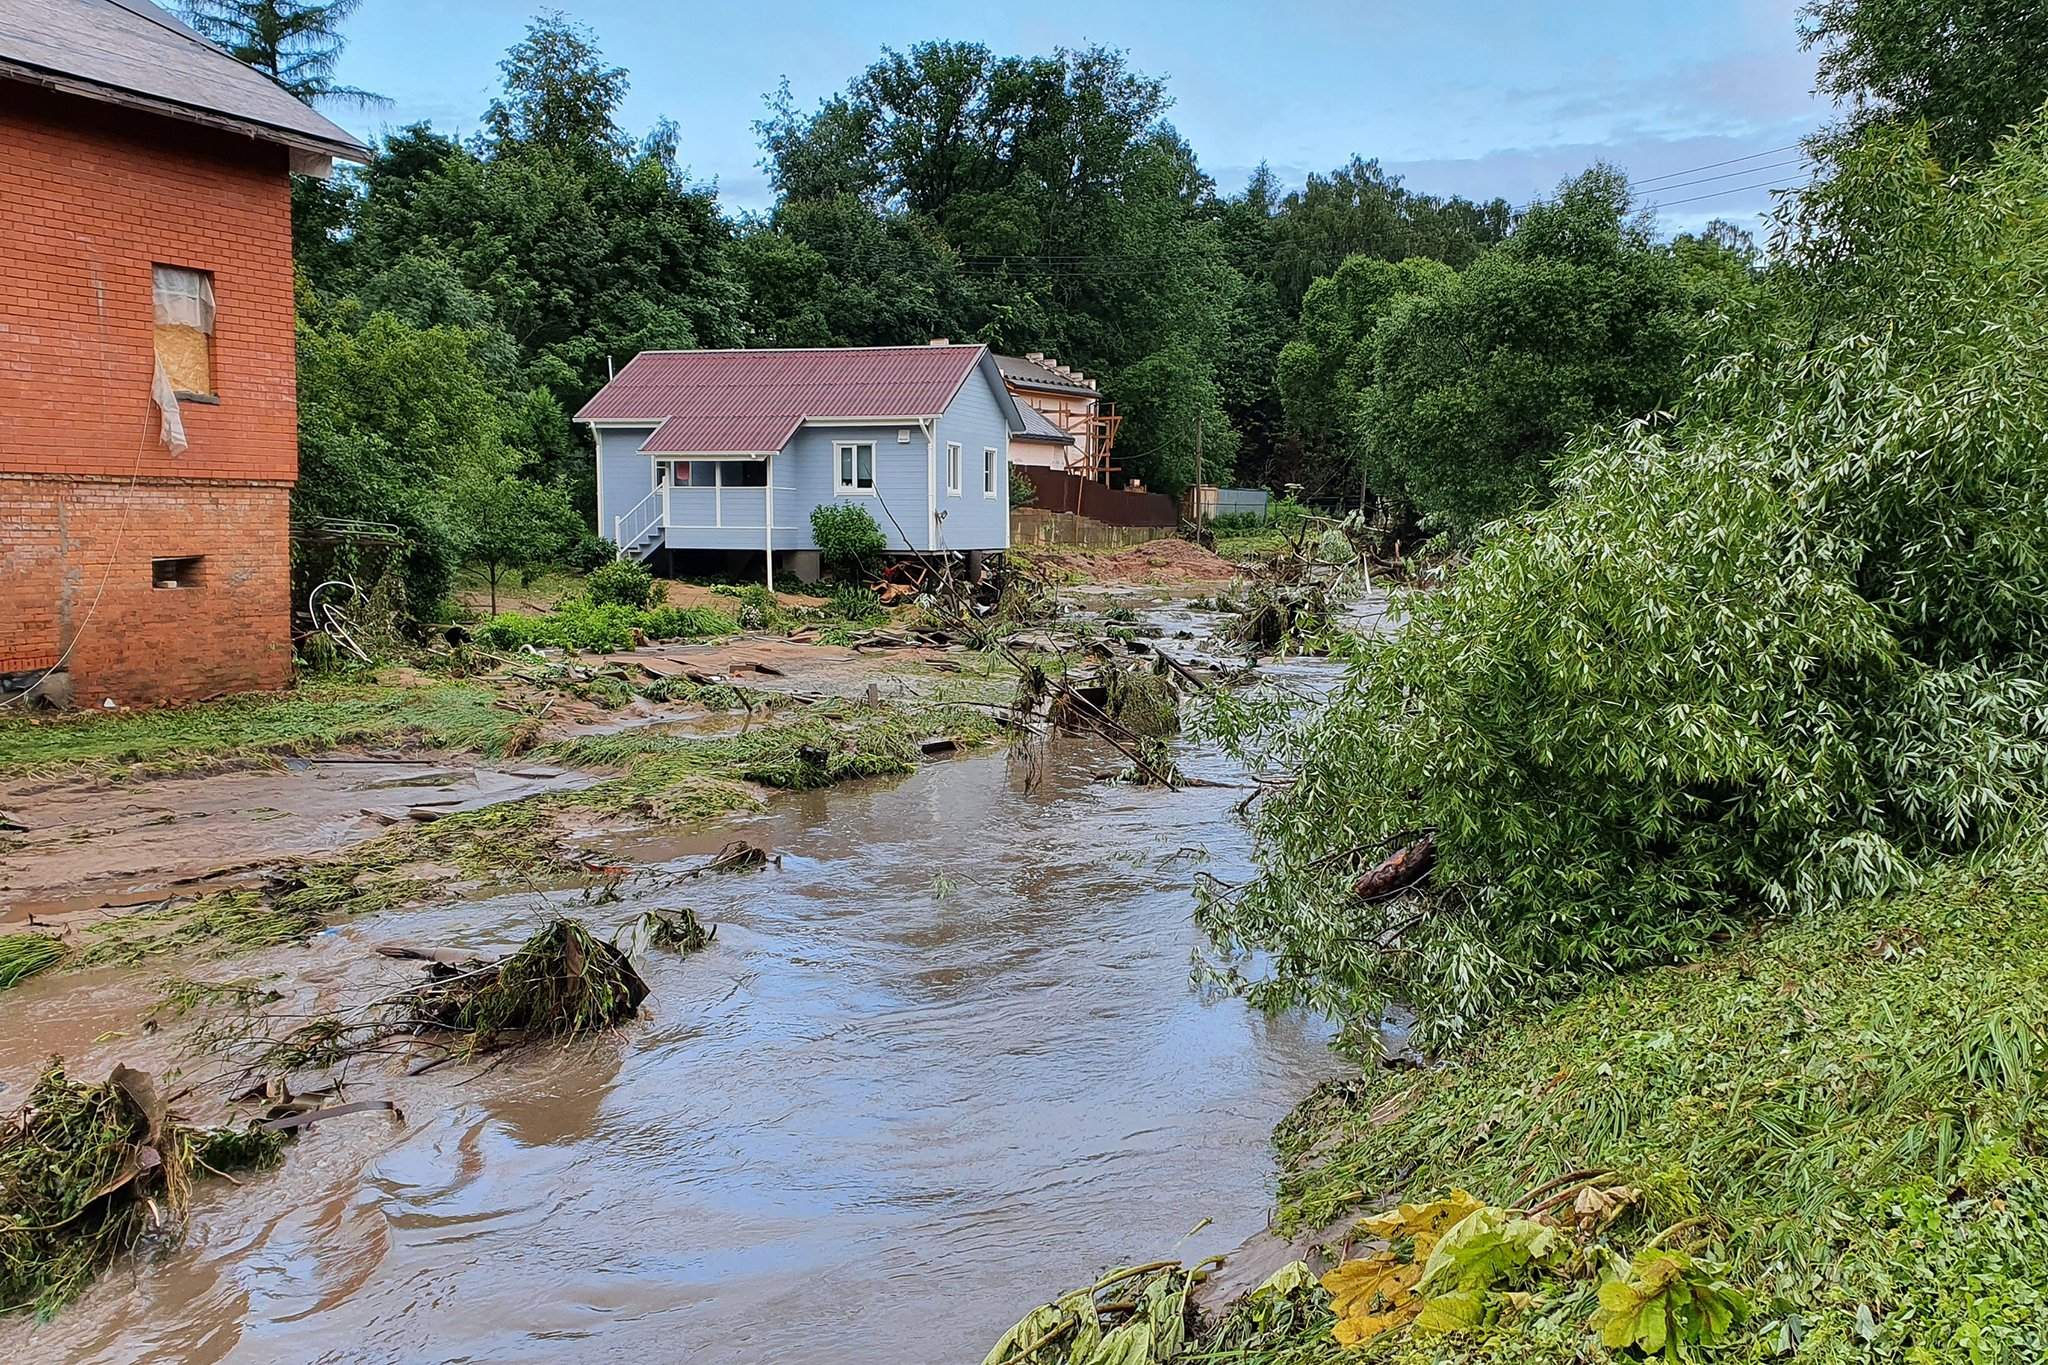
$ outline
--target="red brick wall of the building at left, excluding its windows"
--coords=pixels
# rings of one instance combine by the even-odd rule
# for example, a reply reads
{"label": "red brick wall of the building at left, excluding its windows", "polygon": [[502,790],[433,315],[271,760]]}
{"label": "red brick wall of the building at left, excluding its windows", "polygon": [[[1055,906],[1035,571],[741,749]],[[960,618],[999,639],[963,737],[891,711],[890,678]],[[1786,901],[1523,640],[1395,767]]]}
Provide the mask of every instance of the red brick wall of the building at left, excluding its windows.
{"label": "red brick wall of the building at left, excluding its windows", "polygon": [[[285,151],[0,80],[0,673],[70,651],[90,704],[281,686]],[[219,403],[180,403],[178,456],[150,403],[158,264],[209,270],[217,307]],[[207,557],[207,585],[152,589],[150,561],[184,555]]]}

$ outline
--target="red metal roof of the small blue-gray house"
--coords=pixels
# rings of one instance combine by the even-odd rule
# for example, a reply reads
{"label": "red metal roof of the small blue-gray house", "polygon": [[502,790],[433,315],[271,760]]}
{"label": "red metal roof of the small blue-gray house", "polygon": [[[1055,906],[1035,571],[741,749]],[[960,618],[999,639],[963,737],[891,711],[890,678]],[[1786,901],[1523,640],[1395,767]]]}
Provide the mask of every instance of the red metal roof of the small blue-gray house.
{"label": "red metal roof of the small blue-gray house", "polygon": [[836,350],[647,350],[575,413],[653,422],[649,454],[780,450],[805,420],[932,417],[981,360],[981,346]]}

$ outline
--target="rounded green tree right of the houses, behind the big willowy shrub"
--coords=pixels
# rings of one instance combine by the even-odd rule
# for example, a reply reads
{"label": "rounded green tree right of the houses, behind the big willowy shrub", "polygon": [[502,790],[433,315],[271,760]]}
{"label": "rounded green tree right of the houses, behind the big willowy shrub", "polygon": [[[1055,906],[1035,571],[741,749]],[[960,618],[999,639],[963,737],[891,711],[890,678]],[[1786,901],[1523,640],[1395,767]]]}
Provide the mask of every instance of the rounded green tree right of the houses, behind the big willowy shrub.
{"label": "rounded green tree right of the houses, behind the big willowy shrub", "polygon": [[1438,289],[1397,297],[1358,407],[1374,491],[1470,536],[1540,501],[1587,426],[1671,403],[1694,336],[1671,254],[1593,168]]}

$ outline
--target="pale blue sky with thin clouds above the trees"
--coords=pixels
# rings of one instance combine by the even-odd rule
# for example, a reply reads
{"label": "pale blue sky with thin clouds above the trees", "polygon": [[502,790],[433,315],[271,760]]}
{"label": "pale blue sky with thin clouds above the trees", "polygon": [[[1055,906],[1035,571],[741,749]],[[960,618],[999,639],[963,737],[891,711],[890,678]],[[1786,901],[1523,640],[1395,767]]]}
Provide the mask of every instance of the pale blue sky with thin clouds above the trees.
{"label": "pale blue sky with thin clouds above the trees", "polygon": [[[365,0],[342,80],[393,106],[340,113],[358,133],[416,119],[475,129],[498,59],[541,8],[506,0]],[[1798,0],[1341,0],[1268,4],[561,4],[633,76],[625,121],[682,129],[692,174],[729,207],[768,203],[752,123],[784,76],[803,106],[838,90],[883,45],[973,39],[997,51],[1106,43],[1167,78],[1171,121],[1219,188],[1266,160],[1286,184],[1354,151],[1419,190],[1524,203],[1608,160],[1671,207],[1667,229],[1747,221],[1755,184],[1792,184],[1794,143],[1829,115],[1810,94]],[[1731,158],[1745,164],[1696,174]],[[1755,170],[1751,170],[1755,168]],[[1735,174],[1729,174],[1735,172]],[[1722,176],[1704,180],[1704,176]],[[1675,188],[1667,188],[1675,186]],[[1706,199],[1696,199],[1706,196]],[[1694,203],[1675,203],[1694,201]]]}

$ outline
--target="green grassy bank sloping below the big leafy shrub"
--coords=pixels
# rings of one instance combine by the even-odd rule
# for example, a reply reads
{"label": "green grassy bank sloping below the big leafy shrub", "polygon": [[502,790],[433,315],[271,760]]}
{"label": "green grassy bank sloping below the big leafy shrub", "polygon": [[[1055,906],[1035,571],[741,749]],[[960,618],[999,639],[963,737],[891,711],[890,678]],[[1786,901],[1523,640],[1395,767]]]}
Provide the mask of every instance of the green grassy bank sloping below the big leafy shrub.
{"label": "green grassy bank sloping below the big leafy shrub", "polygon": [[[1751,1295],[1714,1361],[2038,1361],[2044,1097],[2048,868],[1948,870],[1509,1019],[1442,1068],[1325,1087],[1278,1134],[1280,1224],[1608,1171],[1645,1193],[1614,1246],[1686,1224]],[[1583,1308],[1350,1355],[1321,1314],[1206,1359],[1626,1359]]]}

